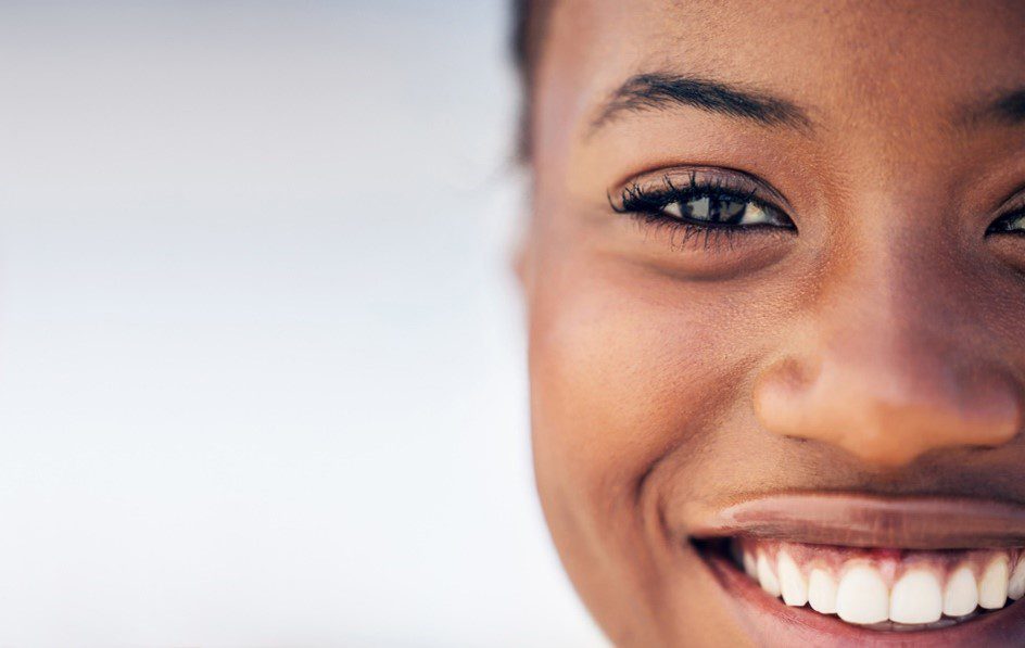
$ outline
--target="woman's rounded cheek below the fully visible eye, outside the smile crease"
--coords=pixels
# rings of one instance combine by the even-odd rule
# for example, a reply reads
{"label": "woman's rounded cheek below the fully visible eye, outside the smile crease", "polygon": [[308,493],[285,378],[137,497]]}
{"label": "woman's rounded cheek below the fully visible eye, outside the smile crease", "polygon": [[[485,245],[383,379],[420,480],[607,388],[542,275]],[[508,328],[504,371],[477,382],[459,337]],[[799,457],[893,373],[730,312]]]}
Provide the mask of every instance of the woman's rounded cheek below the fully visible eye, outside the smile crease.
{"label": "woman's rounded cheek below the fully visible eye, outside the smile crease", "polygon": [[736,404],[739,306],[627,264],[559,263],[531,298],[539,484],[592,523],[621,523],[612,507],[638,514],[644,475],[691,455]]}

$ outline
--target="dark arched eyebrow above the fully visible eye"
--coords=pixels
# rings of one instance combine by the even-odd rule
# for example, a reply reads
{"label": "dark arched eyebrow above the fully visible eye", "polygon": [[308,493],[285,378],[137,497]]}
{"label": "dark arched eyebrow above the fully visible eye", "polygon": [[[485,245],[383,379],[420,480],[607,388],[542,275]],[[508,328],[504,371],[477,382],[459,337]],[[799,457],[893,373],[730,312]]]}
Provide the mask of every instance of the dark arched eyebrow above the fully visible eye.
{"label": "dark arched eyebrow above the fully visible eye", "polygon": [[592,132],[622,113],[679,106],[746,119],[767,127],[785,126],[808,130],[812,126],[803,109],[764,92],[699,77],[641,74],[631,77],[612,92],[593,122]]}

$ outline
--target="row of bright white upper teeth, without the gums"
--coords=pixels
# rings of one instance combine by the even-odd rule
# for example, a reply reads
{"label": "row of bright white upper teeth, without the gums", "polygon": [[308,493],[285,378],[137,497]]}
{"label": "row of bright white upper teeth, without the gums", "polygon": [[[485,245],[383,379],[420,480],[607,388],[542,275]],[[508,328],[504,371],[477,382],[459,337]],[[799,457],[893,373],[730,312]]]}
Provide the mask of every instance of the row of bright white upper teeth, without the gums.
{"label": "row of bright white upper teeth, without the gums", "polygon": [[944,614],[970,614],[976,607],[999,609],[1008,597],[1017,600],[1025,595],[1025,554],[1012,570],[1008,552],[994,551],[980,573],[964,563],[950,572],[944,585],[927,566],[912,566],[893,588],[870,560],[847,561],[837,581],[822,568],[812,568],[806,577],[785,549],[776,552],[775,560],[764,551],[749,550],[743,558],[745,571],[770,595],[782,596],[788,606],[809,603],[848,623],[933,623]]}

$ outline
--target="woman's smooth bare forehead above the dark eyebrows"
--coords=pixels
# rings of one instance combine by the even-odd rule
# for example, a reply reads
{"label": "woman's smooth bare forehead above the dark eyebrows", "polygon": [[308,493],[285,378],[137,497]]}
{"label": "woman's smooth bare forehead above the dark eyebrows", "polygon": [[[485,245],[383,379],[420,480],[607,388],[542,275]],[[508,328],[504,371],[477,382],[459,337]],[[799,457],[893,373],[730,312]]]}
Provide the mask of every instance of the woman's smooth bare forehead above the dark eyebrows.
{"label": "woman's smooth bare forehead above the dark eyebrows", "polygon": [[876,132],[946,124],[1025,86],[1018,1],[562,0],[551,21],[536,77],[549,143],[584,138],[610,93],[650,72],[756,88],[826,128]]}

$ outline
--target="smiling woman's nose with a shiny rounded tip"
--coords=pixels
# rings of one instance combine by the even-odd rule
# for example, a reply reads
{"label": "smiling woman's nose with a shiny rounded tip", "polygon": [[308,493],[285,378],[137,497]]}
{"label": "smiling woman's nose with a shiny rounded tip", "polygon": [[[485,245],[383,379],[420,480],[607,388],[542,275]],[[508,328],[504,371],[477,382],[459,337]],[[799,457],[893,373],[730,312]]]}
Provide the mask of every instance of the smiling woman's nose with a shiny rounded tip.
{"label": "smiling woman's nose with a shiny rounded tip", "polygon": [[980,291],[936,281],[936,259],[895,247],[834,268],[756,377],[761,424],[884,467],[1013,439],[1022,389],[973,308]]}

